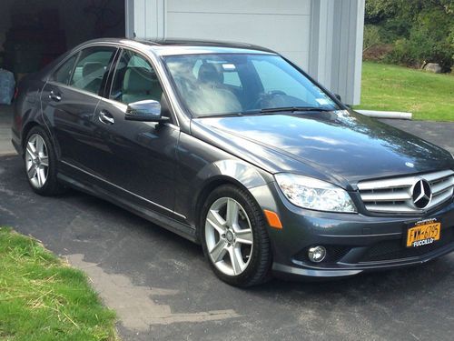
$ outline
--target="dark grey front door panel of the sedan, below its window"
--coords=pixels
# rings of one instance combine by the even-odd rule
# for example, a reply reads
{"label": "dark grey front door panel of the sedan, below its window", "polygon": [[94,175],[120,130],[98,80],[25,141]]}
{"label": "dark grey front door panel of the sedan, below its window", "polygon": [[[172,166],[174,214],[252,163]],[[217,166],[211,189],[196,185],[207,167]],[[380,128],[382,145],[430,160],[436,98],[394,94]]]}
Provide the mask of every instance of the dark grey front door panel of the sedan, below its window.
{"label": "dark grey front door panel of the sedan, below its window", "polygon": [[[165,214],[173,211],[175,148],[180,130],[173,125],[126,121],[125,105],[102,100],[96,109],[97,174]],[[100,119],[109,113],[113,124]]]}

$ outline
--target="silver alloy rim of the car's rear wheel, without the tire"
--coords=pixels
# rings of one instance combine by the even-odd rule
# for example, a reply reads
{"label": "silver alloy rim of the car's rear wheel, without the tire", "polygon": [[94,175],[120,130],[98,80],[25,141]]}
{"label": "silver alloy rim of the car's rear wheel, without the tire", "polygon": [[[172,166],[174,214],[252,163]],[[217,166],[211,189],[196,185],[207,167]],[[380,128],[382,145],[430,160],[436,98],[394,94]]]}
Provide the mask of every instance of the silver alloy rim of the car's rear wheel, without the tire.
{"label": "silver alloy rim of the car's rear wheel, without the tire", "polygon": [[25,149],[25,166],[30,183],[42,188],[49,173],[49,155],[43,137],[31,135]]}

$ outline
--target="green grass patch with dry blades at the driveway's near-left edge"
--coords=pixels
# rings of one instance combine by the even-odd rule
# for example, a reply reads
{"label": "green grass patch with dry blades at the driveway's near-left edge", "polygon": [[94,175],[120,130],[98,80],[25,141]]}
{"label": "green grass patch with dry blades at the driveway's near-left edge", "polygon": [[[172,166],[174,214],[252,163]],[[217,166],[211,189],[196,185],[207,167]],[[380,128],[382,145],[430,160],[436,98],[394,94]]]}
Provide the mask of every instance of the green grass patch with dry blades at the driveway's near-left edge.
{"label": "green grass patch with dry blades at the driveway's near-left edge", "polygon": [[117,340],[114,312],[81,271],[0,227],[0,340]]}

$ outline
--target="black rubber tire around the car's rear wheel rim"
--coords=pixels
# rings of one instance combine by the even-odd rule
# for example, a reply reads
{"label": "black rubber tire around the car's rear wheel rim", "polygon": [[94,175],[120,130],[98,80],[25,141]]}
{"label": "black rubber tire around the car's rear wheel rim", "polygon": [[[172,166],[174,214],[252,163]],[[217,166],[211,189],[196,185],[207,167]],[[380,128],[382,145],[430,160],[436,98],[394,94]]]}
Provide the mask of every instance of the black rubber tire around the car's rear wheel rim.
{"label": "black rubber tire around the car's rear wheel rim", "polygon": [[[41,187],[35,186],[35,184],[31,181],[27,174],[27,166],[26,166],[26,147],[30,138],[34,135],[39,135],[44,140],[45,147],[47,149],[47,156],[48,156],[48,166],[47,166],[47,177],[44,182],[44,185]],[[32,189],[40,196],[56,196],[63,194],[66,188],[59,183],[57,180],[57,158],[55,155],[54,145],[49,138],[49,135],[45,132],[45,130],[41,126],[34,126],[25,137],[25,144],[24,144],[24,168],[25,168],[25,176],[28,180],[28,184],[32,187]]]}

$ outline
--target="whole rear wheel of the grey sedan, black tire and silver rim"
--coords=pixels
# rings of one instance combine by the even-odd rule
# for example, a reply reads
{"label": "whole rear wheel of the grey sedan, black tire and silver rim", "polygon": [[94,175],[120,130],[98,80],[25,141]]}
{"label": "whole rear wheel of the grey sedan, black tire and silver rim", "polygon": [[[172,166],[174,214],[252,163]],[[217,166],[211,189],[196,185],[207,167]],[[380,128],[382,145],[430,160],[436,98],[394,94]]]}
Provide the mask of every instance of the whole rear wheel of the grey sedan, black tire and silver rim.
{"label": "whole rear wheel of the grey sedan, black tire and silver rim", "polygon": [[44,129],[33,127],[25,140],[25,173],[33,190],[42,196],[53,196],[64,192],[56,174],[54,147]]}

